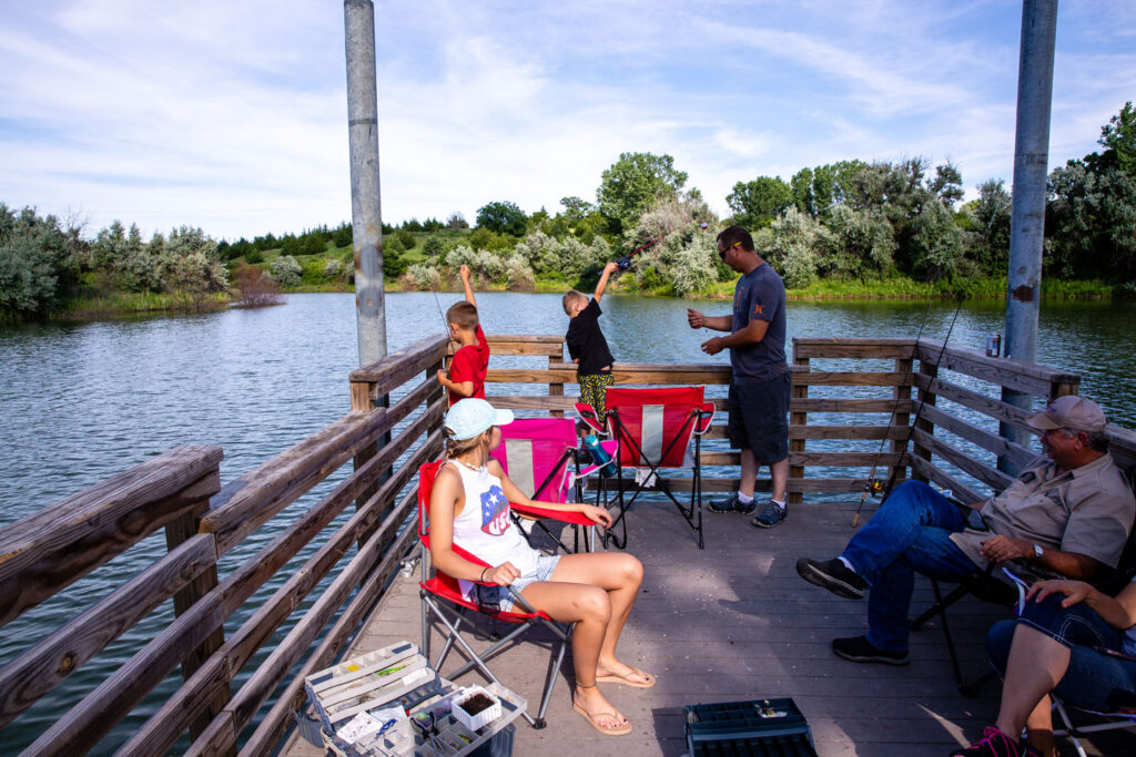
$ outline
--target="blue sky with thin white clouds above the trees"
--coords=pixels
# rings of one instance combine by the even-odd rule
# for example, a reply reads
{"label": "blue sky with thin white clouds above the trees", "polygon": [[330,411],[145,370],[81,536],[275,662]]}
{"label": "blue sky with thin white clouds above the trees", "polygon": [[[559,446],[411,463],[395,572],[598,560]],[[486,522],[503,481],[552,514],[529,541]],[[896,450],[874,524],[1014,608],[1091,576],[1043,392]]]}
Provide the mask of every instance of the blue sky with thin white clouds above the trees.
{"label": "blue sky with thin white clouds above the trees", "polygon": [[[350,220],[336,0],[0,0],[0,202],[216,238]],[[836,160],[1012,178],[1017,0],[376,2],[383,219],[595,200],[670,154],[737,182]],[[1136,100],[1136,2],[1066,0],[1050,166]]]}

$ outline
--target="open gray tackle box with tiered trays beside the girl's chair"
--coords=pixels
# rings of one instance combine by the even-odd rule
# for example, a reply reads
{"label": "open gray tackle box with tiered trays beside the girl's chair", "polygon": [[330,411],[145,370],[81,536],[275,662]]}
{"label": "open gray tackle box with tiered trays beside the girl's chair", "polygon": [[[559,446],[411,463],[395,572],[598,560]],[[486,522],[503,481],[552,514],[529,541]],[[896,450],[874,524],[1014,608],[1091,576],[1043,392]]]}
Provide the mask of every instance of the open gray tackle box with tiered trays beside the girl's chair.
{"label": "open gray tackle box with tiered trays beside the girl's chair", "polygon": [[[319,716],[323,746],[343,757],[461,757],[486,743],[492,754],[508,755],[511,723],[527,707],[504,687],[463,688],[440,678],[409,641],[314,673],[304,688]],[[473,693],[495,700],[492,712],[500,712],[487,722],[479,718],[476,730],[453,715],[454,703]]]}

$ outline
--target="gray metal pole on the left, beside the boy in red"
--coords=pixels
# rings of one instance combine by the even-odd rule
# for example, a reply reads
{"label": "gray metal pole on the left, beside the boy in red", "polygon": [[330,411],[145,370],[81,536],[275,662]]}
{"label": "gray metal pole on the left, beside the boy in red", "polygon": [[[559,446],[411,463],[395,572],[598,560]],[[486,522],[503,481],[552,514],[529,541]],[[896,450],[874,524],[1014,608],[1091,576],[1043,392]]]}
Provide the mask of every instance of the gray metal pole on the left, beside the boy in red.
{"label": "gray metal pole on the left, beside the boy in red", "polygon": [[371,0],[343,0],[343,26],[346,32],[356,326],[359,338],[359,364],[367,365],[386,356],[383,213],[378,191],[375,6]]}

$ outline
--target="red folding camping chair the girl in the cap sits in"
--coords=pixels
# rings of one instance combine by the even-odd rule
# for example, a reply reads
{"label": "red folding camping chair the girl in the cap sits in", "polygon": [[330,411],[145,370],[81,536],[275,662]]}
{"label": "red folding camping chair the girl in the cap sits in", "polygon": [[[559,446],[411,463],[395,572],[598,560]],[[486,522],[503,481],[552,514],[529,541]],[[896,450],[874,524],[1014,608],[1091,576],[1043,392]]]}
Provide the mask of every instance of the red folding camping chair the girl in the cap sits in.
{"label": "red folding camping chair the girl in the cap sits in", "polygon": [[[557,623],[546,614],[534,609],[527,602],[525,602],[525,598],[520,595],[520,592],[516,591],[511,587],[509,588],[509,591],[512,592],[513,600],[516,603],[512,611],[501,612],[500,609],[495,609],[493,607],[482,606],[477,602],[470,602],[465,598],[457,579],[446,575],[441,571],[432,570],[433,566],[429,558],[429,495],[431,490],[434,488],[434,479],[437,477],[437,471],[441,469],[442,464],[443,461],[434,461],[426,463],[418,469],[418,539],[421,542],[423,549],[423,572],[421,580],[418,582],[418,586],[420,587],[418,596],[421,598],[423,654],[427,659],[429,659],[431,616],[434,616],[444,628],[443,636],[445,637],[445,644],[442,646],[442,650],[438,653],[437,659],[432,663],[434,670],[441,673],[442,664],[445,662],[450,650],[458,647],[466,656],[467,662],[456,671],[446,672],[446,678],[457,679],[476,667],[498,685],[504,685],[493,671],[490,670],[486,661],[488,661],[499,649],[510,644],[529,628],[543,624],[552,631],[556,639],[553,640],[550,649],[550,665],[548,675],[544,680],[541,707],[537,710],[535,718],[533,718],[528,713],[523,713],[525,720],[528,721],[534,729],[543,729],[545,726],[544,712],[549,706],[549,698],[552,695],[552,685],[556,683],[556,674],[557,671],[560,670],[560,665],[563,663],[565,651],[568,648],[568,639],[571,636],[571,630],[575,624],[569,623],[565,625]],[[541,511],[541,513],[544,514],[549,514],[552,511],[546,510]],[[484,561],[466,552],[457,544],[453,545],[453,550],[459,556],[465,557],[471,563],[477,565],[486,564]],[[470,621],[473,617],[469,615],[470,613],[474,614],[473,616],[482,614],[493,619],[494,621],[501,621],[502,623],[516,625],[516,628],[500,639],[496,639],[487,649],[478,655],[469,642],[461,636],[462,626],[466,625],[467,621]],[[471,625],[471,623],[469,624]]]}

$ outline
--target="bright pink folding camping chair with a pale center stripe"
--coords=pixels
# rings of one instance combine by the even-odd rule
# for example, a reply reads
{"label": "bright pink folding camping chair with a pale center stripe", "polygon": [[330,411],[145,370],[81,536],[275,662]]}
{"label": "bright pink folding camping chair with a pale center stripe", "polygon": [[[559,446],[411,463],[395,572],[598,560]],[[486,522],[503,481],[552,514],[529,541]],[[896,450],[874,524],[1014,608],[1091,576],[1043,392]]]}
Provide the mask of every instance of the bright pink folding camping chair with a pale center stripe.
{"label": "bright pink folding camping chair with a pale center stripe", "polygon": [[[583,502],[585,477],[594,473],[600,465],[588,464],[580,468],[576,449],[576,423],[570,418],[519,418],[512,423],[500,427],[501,444],[491,452],[501,463],[509,480],[517,485],[532,499],[563,504],[566,502]],[[609,454],[615,454],[616,441],[603,441]],[[602,483],[596,494],[596,504],[603,494]],[[526,512],[535,513],[532,508]],[[540,511],[551,512],[551,511]],[[518,511],[513,511],[513,521],[519,525]],[[569,523],[573,527],[573,548],[560,540],[545,525],[546,518],[535,521],[565,552],[579,552],[579,531],[584,529],[584,546],[588,552],[595,550],[595,524],[576,513],[557,512],[553,520]],[[527,536],[527,535],[526,535]]]}

